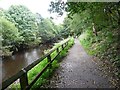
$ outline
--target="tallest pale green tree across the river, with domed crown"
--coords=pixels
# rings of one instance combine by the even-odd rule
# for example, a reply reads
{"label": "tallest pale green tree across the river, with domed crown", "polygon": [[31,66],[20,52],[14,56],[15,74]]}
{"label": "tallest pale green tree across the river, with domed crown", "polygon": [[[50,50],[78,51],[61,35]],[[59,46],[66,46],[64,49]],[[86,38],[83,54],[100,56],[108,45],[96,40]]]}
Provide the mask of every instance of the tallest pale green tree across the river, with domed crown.
{"label": "tallest pale green tree across the river, with domed crown", "polygon": [[[8,10],[11,18],[14,19],[15,26],[24,38],[25,45],[31,45],[36,40],[37,23],[35,15],[23,5],[11,6]],[[39,41],[40,42],[40,41]]]}

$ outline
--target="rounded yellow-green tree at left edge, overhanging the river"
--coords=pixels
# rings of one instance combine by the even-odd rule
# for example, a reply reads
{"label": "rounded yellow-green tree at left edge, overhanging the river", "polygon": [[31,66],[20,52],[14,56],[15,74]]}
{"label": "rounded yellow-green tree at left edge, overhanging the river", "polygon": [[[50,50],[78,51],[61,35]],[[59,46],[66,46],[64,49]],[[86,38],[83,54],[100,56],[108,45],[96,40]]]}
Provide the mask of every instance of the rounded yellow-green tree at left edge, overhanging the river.
{"label": "rounded yellow-green tree at left edge, overhanging the river", "polygon": [[0,33],[2,40],[2,47],[14,50],[22,43],[23,37],[20,36],[18,29],[13,23],[5,18],[0,18]]}

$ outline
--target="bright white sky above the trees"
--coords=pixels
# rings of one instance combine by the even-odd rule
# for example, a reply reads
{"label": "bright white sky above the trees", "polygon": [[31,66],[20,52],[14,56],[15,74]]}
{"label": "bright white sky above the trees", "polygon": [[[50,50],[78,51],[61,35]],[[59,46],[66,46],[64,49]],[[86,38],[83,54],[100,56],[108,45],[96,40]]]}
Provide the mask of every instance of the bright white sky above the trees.
{"label": "bright white sky above the trees", "polygon": [[33,13],[40,13],[44,18],[52,16],[56,24],[62,23],[66,14],[62,17],[50,14],[48,12],[50,1],[52,0],[0,0],[0,8],[8,9],[11,5],[25,5]]}

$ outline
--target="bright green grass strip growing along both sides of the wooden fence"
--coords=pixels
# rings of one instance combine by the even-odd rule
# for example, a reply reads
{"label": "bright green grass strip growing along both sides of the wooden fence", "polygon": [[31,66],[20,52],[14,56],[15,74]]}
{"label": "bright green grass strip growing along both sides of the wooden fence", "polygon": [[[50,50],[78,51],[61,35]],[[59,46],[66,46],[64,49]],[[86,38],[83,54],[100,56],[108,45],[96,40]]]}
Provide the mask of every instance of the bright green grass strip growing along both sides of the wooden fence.
{"label": "bright green grass strip growing along both sides of the wooden fence", "polygon": [[[58,47],[60,44],[64,43],[67,39],[63,40],[60,43],[56,43],[52,49]],[[36,81],[36,83],[32,86],[32,89],[39,88],[41,85],[48,82],[48,79],[51,78],[54,71],[59,67],[59,62],[62,58],[64,58],[67,55],[68,49],[74,44],[74,38],[70,38],[70,41],[68,45],[62,50],[60,47],[59,50],[62,50],[60,55],[57,56],[57,58],[52,62],[51,67],[47,68],[47,70],[41,75],[41,77]],[[45,53],[51,51],[52,49],[45,50]],[[51,54],[51,58],[53,59],[57,55],[57,51],[54,51]],[[30,71],[28,71],[28,83],[30,83],[36,75],[45,67],[45,65],[48,63],[47,58],[45,58],[43,61],[41,61],[39,64],[37,64],[34,68],[32,68]],[[17,87],[20,89],[20,85],[13,84],[11,86],[12,88]]]}

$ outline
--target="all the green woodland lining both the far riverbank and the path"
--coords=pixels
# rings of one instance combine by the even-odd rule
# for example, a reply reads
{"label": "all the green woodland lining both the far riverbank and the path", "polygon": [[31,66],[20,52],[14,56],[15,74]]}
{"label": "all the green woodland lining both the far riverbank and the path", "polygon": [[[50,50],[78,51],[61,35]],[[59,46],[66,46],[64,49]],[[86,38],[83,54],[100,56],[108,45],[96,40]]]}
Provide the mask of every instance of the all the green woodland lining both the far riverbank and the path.
{"label": "all the green woodland lining both the far riverbank and the path", "polygon": [[[27,7],[13,5],[0,9],[0,50],[3,54],[68,36],[79,37],[89,54],[107,59],[120,68],[120,2],[51,2],[49,11],[62,16],[64,23],[32,13]],[[117,73],[120,75],[119,73]]]}

